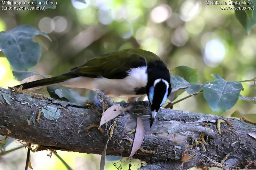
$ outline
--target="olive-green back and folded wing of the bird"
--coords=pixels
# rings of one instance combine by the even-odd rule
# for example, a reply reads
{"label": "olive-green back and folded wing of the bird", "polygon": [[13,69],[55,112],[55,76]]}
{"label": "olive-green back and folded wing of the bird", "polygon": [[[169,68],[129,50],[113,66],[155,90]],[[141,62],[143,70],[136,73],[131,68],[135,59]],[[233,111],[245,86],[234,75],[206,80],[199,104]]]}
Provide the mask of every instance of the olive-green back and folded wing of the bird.
{"label": "olive-green back and folded wing of the bird", "polygon": [[89,60],[84,65],[65,73],[65,75],[92,78],[102,76],[104,78],[122,79],[127,76],[129,69],[146,66],[148,61],[160,59],[155,54],[155,56],[151,56],[152,54],[150,53],[148,55],[148,51],[140,49],[126,49],[119,52],[107,53]]}

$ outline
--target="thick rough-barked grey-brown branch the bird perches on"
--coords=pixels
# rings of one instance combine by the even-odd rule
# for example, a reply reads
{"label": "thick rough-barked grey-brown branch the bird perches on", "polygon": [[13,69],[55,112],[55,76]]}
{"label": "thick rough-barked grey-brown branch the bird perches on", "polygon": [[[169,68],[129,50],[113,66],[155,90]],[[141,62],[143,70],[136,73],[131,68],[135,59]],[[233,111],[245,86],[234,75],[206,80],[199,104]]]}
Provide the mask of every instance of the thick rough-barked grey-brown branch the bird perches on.
{"label": "thick rough-barked grey-brown branch the bird perches on", "polygon": [[[140,116],[145,129],[141,147],[151,151],[138,150],[133,156],[150,164],[141,169],[188,169],[193,166],[235,169],[244,168],[249,161],[256,159],[256,139],[247,135],[255,133],[256,126],[238,119],[160,109],[152,128],[149,128],[150,111],[143,102],[137,102],[129,111],[104,124],[101,132],[97,127],[87,129],[90,125],[99,125],[102,113],[99,104],[91,107],[52,98],[33,98],[27,94],[12,94],[3,88],[0,88],[0,102],[0,134],[44,148],[101,154],[108,140],[109,127],[115,120],[117,126],[108,142],[107,155],[127,157],[132,146],[124,138],[134,138],[134,133],[127,135],[126,132],[136,128],[136,118]],[[121,105],[126,107],[129,104]],[[225,121],[220,124],[221,134],[217,130],[219,120]],[[198,138],[203,133],[202,138],[207,144]],[[188,162],[181,161],[183,152],[188,152],[191,157]],[[226,161],[223,161],[227,154]]]}

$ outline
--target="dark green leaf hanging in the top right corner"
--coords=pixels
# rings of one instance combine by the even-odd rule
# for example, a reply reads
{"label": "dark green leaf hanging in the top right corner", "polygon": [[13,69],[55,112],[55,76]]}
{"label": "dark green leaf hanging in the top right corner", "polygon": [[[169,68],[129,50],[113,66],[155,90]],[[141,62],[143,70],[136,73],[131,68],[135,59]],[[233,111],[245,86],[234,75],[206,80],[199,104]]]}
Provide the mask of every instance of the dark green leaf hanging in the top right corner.
{"label": "dark green leaf hanging in the top right corner", "polygon": [[[254,8],[256,8],[256,0],[251,0],[253,3]],[[239,5],[234,5],[234,7],[239,7]],[[256,9],[250,10],[253,13],[253,16],[256,16]],[[250,13],[249,10],[247,10],[247,13]],[[251,14],[247,15],[244,10],[235,10],[236,18],[238,21],[242,24],[247,34],[250,33],[251,28],[254,24],[256,24],[256,17],[251,18]],[[248,18],[248,17],[249,18]]]}

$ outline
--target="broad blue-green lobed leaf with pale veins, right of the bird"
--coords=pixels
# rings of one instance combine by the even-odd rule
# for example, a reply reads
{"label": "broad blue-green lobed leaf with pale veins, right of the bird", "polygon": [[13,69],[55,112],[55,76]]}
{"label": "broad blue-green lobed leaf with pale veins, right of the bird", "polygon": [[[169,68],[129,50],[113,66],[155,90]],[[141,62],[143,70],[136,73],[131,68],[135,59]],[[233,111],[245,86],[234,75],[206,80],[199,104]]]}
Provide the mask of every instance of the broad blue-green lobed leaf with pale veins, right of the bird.
{"label": "broad blue-green lobed leaf with pale veins, right of the bird", "polygon": [[205,83],[204,99],[212,111],[220,115],[236,104],[243,86],[237,81],[226,81],[217,74],[211,76],[215,78],[215,81]]}

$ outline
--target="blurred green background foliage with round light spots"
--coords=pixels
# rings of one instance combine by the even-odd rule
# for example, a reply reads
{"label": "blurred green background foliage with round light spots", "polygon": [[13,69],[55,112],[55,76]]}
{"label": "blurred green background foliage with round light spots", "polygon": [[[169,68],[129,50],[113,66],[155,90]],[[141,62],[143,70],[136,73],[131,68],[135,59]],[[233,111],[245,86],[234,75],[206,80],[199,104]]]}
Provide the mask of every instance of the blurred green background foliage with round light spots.
{"label": "blurred green background foliage with round light spots", "polygon": [[[255,15],[249,20],[244,11],[220,10],[220,6],[225,5],[206,5],[205,1],[197,0],[86,0],[87,4],[70,0],[56,2],[56,9],[45,11],[0,11],[0,31],[28,24],[47,33],[52,39],[51,42],[40,37],[42,57],[29,71],[57,76],[101,54],[124,48],[142,48],[159,55],[169,69],[180,65],[198,68],[199,84],[213,82],[211,74],[218,74],[226,81],[248,80],[256,75]],[[250,35],[247,35],[250,30]],[[13,80],[12,70],[5,58],[0,57],[0,62],[0,86],[7,88],[15,85],[11,83],[19,84]],[[242,85],[242,95],[256,96],[253,81],[243,82]],[[82,96],[93,96],[88,90],[75,90]],[[183,92],[177,100],[187,95]],[[123,99],[116,99],[120,100]],[[173,108],[213,114],[202,94],[183,100]],[[233,115],[250,114],[248,117],[255,120],[256,105],[253,102],[239,99],[223,115],[230,116],[236,110],[240,113]],[[84,169],[84,166],[78,166],[75,158],[95,164],[91,169],[99,169],[100,158],[97,156],[61,153],[64,155],[60,154],[61,157],[64,160],[66,157],[68,164],[76,169]],[[33,165],[33,154],[31,159],[32,166],[36,167]],[[6,161],[3,162],[6,164]],[[21,162],[25,165],[25,158],[16,155],[16,159],[8,164],[19,169]],[[128,164],[126,162],[122,166],[127,169]],[[51,167],[64,168],[60,161]],[[112,163],[106,169],[113,169]]]}

